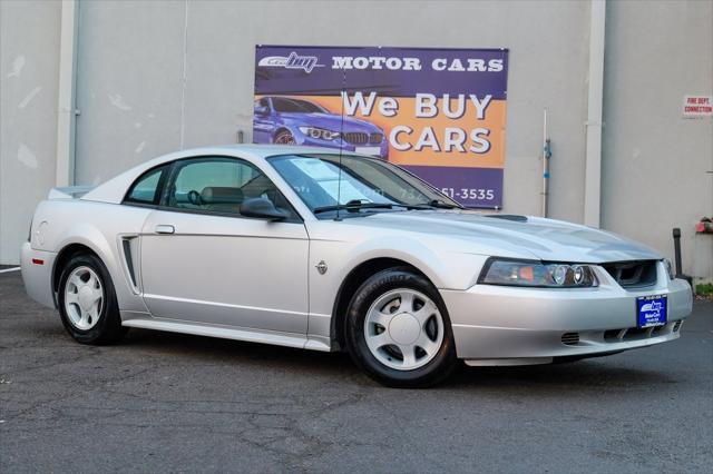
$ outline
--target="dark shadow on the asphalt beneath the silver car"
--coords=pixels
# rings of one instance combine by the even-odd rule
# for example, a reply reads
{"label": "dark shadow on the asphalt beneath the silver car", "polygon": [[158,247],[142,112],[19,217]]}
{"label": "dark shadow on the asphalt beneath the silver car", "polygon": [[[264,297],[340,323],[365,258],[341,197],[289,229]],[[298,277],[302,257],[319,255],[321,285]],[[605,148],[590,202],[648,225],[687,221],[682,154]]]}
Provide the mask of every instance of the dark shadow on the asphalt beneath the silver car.
{"label": "dark shadow on the asphalt beneath the silver car", "polygon": [[[345,353],[322,353],[145,329],[131,329],[121,346],[131,346],[133,350],[140,348],[167,357],[189,357],[198,364],[244,364],[258,369],[268,362],[281,368],[290,368],[291,372],[324,378],[331,383],[355,383],[360,386],[381,387],[363,375]],[[462,365],[446,383],[434,389],[498,389],[499,392],[511,389],[518,393],[527,389],[538,395],[548,393],[556,395],[564,388],[605,393],[617,388],[629,391],[651,387],[652,384],[677,382],[664,371],[625,367],[618,362],[609,361],[585,359],[566,364],[520,367]]]}

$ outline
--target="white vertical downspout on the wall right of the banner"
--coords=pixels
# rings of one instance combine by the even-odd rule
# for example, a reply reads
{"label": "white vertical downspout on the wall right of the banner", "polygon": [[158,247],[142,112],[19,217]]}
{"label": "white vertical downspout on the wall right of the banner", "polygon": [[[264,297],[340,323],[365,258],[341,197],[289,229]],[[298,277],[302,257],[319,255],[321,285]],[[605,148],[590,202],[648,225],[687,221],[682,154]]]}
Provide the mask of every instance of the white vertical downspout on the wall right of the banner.
{"label": "white vertical downspout on the wall right of the banner", "polygon": [[584,224],[599,227],[602,195],[602,107],[606,0],[592,0],[589,19],[589,90],[585,157]]}

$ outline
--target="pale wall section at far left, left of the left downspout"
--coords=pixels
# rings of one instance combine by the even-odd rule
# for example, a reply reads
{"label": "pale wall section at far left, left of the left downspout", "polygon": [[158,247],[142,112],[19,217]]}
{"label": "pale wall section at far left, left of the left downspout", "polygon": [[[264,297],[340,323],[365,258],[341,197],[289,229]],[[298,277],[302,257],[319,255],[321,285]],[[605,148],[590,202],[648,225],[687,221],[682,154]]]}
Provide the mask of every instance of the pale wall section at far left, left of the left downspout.
{"label": "pale wall section at far left, left of the left downspout", "polygon": [[0,1],[0,264],[55,184],[59,2]]}

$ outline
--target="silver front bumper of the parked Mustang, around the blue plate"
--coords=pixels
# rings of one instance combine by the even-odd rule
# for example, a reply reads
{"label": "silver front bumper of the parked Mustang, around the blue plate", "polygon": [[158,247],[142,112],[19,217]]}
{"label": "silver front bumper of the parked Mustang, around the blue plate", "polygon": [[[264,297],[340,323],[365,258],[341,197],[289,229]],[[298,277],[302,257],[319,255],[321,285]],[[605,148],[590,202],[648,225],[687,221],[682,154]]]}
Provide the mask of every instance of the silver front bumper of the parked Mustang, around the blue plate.
{"label": "silver front bumper of the parked Mustang, around the blue plate", "polygon": [[[543,289],[476,285],[441,290],[456,350],[469,365],[524,365],[556,358],[606,355],[647,347],[678,337],[691,314],[685,280],[667,277],[660,264],[656,285],[626,290],[596,267],[599,286]],[[636,328],[636,298],[667,295],[667,324]]]}

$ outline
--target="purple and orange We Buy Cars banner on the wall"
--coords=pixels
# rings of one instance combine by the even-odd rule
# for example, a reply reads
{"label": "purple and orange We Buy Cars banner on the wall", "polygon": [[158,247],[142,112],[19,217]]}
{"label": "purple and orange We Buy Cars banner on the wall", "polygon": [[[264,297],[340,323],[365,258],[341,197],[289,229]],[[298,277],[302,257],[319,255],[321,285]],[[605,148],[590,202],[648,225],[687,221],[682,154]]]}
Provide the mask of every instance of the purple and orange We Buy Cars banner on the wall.
{"label": "purple and orange We Buy Cars banner on the wall", "polygon": [[356,151],[502,206],[507,49],[257,46],[253,141]]}

